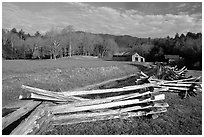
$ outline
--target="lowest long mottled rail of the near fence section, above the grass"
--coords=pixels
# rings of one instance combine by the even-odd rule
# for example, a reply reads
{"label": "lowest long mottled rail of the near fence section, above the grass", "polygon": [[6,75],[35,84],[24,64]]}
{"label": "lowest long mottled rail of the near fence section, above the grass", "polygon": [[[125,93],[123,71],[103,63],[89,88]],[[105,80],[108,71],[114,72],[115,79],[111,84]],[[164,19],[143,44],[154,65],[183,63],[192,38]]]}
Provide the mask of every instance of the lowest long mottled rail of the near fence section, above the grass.
{"label": "lowest long mottled rail of the near fence section, above the grass", "polygon": [[84,123],[84,122],[94,122],[94,121],[100,121],[100,120],[110,120],[110,119],[127,119],[129,117],[139,117],[139,116],[147,116],[147,115],[153,115],[153,114],[159,114],[167,112],[166,108],[158,108],[157,110],[152,110],[150,112],[146,111],[137,111],[137,112],[127,112],[124,114],[118,114],[118,115],[107,115],[107,116],[101,116],[96,118],[86,118],[86,119],[74,119],[72,121],[70,120],[55,120],[52,121],[53,125],[70,125],[70,124],[76,124],[76,123]]}

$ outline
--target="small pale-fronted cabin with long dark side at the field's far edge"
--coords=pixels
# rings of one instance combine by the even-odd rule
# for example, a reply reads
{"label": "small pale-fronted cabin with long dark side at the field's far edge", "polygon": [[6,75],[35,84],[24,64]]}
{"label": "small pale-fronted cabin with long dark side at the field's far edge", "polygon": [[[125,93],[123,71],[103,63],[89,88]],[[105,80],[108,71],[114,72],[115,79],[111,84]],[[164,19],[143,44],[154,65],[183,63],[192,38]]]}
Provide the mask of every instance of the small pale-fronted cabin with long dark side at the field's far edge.
{"label": "small pale-fronted cabin with long dark side at the field's far edge", "polygon": [[145,62],[145,58],[136,52],[122,52],[113,55],[115,61]]}

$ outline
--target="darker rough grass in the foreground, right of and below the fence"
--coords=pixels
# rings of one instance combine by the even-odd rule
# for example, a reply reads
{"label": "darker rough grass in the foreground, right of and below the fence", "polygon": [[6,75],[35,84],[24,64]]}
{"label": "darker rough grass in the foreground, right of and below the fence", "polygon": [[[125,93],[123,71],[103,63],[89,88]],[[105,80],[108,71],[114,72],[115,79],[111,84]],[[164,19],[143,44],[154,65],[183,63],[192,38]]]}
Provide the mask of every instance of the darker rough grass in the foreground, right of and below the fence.
{"label": "darker rough grass in the foreground, right of and below the fence", "polygon": [[47,135],[201,135],[201,96],[182,100],[177,94],[166,93],[170,107],[157,119],[132,117],[73,125],[51,126]]}

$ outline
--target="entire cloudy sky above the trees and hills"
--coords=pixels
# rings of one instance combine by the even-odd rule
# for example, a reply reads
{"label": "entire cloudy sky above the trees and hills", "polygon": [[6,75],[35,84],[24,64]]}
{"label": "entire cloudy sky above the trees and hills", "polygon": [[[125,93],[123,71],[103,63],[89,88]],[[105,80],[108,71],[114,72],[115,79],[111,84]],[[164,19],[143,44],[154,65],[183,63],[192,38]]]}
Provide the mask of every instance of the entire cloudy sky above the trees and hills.
{"label": "entire cloudy sky above the trees and hills", "polygon": [[136,37],[202,32],[201,2],[3,2],[2,27],[45,33],[77,31]]}

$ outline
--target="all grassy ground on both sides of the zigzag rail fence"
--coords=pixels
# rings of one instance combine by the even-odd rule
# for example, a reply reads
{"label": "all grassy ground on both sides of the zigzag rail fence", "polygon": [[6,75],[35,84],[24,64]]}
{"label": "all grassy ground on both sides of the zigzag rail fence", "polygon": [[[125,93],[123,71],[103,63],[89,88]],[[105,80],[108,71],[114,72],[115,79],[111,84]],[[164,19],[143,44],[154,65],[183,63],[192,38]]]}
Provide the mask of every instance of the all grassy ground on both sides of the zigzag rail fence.
{"label": "all grassy ground on both sides of the zigzag rail fence", "polygon": [[[59,60],[3,61],[2,102],[7,105],[18,100],[22,84],[48,90],[63,91],[101,82],[111,78],[148,71],[145,66],[130,62],[102,61],[83,57]],[[201,71],[189,71],[189,75],[201,76]],[[130,83],[127,83],[130,84]],[[121,85],[120,85],[121,86]],[[125,85],[124,85],[125,86]],[[180,99],[176,93],[164,93],[168,111],[151,117],[132,117],[79,123],[73,125],[49,125],[43,134],[48,135],[201,135],[202,93]]]}

